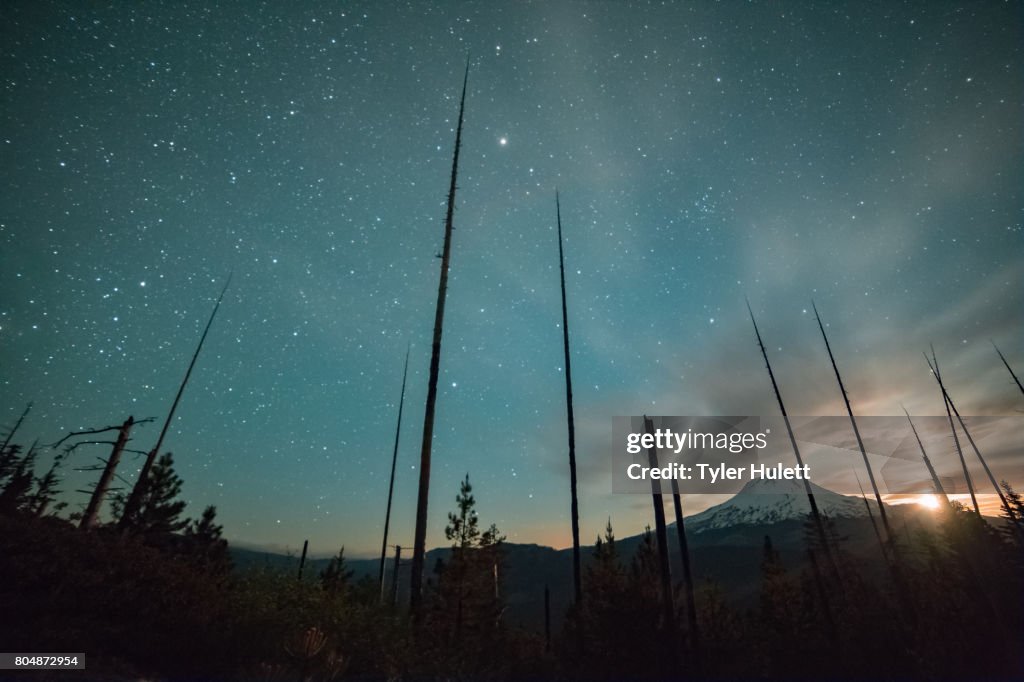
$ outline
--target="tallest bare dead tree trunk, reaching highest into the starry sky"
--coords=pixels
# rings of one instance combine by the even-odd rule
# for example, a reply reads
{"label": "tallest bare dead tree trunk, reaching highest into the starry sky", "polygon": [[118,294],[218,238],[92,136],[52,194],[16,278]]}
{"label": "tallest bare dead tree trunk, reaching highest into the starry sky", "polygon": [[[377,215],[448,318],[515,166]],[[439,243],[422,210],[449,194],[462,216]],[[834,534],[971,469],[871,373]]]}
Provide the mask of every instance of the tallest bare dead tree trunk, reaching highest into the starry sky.
{"label": "tallest bare dead tree trunk, reaching highest into the starry sky", "polygon": [[462,79],[459,100],[459,125],[455,133],[452,157],[452,181],[449,186],[447,211],[444,216],[444,248],[441,252],[441,274],[437,285],[437,309],[434,313],[434,338],[430,353],[430,378],[427,383],[427,404],[423,415],[423,444],[420,449],[420,485],[416,504],[416,530],[413,540],[413,567],[410,581],[410,606],[414,617],[420,617],[423,589],[423,563],[426,559],[427,499],[430,496],[430,451],[434,437],[434,410],[437,403],[437,377],[441,359],[441,334],[444,331],[444,301],[447,297],[447,272],[452,259],[452,221],[455,216],[456,180],[459,175],[459,151],[462,148],[462,122],[466,110],[466,84],[469,81],[469,59]]}

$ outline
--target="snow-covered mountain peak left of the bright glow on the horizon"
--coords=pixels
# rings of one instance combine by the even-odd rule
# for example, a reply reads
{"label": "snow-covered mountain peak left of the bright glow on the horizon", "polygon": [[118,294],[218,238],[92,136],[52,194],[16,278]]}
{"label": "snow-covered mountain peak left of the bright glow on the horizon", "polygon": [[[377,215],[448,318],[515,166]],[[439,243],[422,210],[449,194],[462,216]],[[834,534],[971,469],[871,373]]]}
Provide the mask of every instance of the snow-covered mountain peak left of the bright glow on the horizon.
{"label": "snow-covered mountain peak left of the bright glow on the horizon", "polygon": [[[833,493],[811,483],[818,510],[830,518],[867,516],[864,501]],[[743,524],[768,524],[802,520],[811,511],[802,480],[752,480],[739,493],[720,505],[715,505],[686,519],[687,532]]]}

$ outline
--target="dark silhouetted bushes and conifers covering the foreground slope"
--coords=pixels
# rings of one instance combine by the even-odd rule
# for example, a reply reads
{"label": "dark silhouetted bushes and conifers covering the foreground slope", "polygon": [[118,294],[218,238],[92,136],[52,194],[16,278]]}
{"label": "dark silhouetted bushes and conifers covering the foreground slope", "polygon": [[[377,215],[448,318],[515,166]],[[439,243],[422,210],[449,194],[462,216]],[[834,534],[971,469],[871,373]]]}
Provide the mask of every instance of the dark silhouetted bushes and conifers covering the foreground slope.
{"label": "dark silhouetted bushes and conifers covering the foreground slope", "polygon": [[83,651],[88,662],[85,673],[24,679],[1024,675],[1024,546],[1010,520],[1021,518],[1024,506],[1009,486],[1006,524],[949,505],[937,512],[934,530],[901,538],[886,560],[881,552],[873,560],[848,555],[831,531],[829,565],[808,523],[807,549],[817,558],[798,572],[766,537],[756,604],[738,607],[703,582],[694,590],[693,621],[681,581],[666,608],[655,535],[646,532],[632,556],[621,556],[609,523],[585,561],[582,604],[546,637],[503,617],[503,538],[479,524],[468,477],[449,514],[452,552],[428,570],[416,622],[402,604],[389,604],[387,590],[382,599],[377,581],[353,581],[343,551],[318,572],[232,569],[214,510],[183,518],[169,457],[158,461],[123,529],[113,522],[82,528],[48,512],[44,477],[19,478],[27,455],[15,446],[5,455],[0,641],[8,651]]}

